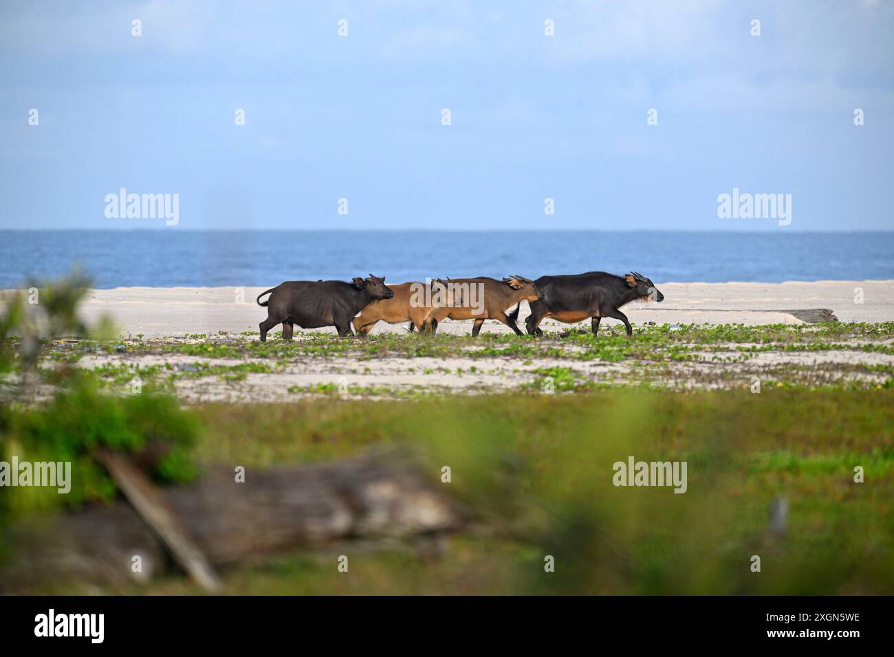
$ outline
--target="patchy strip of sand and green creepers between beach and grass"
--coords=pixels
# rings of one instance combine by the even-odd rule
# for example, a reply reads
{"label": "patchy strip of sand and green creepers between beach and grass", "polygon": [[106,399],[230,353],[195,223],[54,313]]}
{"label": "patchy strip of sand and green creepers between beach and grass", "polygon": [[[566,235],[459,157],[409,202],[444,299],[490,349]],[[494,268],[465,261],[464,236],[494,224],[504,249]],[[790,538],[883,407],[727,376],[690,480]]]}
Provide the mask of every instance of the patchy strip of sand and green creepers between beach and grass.
{"label": "patchy strip of sand and green creepers between beach and grass", "polygon": [[633,337],[578,327],[543,337],[483,333],[473,339],[381,333],[366,340],[301,334],[114,342],[57,341],[45,373],[78,363],[110,390],[167,386],[190,403],[291,401],[341,393],[352,398],[618,386],[656,390],[874,389],[894,376],[894,323],[741,324],[637,327]]}

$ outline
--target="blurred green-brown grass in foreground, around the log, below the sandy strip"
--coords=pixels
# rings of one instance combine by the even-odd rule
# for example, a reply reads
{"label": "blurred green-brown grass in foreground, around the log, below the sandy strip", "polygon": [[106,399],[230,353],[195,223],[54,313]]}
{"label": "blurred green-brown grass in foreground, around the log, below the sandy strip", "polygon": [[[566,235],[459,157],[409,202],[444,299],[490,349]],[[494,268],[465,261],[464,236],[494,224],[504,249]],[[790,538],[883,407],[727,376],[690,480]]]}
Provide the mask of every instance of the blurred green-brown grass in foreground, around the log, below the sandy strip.
{"label": "blurred green-brown grass in foreground, around the log, below the sandy strip", "polygon": [[[475,520],[437,545],[270,557],[226,572],[226,593],[892,594],[892,402],[890,390],[615,391],[190,413],[205,426],[207,461],[267,467],[406,449]],[[613,485],[612,463],[631,455],[687,461],[687,492]],[[780,499],[789,512],[774,531]],[[348,573],[336,569],[342,554]],[[181,577],[138,590],[197,593]]]}

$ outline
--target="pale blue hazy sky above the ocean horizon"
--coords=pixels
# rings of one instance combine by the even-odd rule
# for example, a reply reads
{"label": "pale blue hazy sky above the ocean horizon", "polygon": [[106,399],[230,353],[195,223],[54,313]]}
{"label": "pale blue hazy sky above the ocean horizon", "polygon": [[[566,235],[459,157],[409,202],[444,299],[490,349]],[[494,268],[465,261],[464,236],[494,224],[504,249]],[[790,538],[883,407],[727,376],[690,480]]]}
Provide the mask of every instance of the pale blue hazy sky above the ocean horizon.
{"label": "pale blue hazy sky above the ocean horizon", "polygon": [[892,63],[885,0],[4,0],[0,229],[890,230]]}

